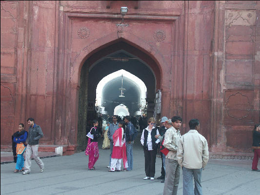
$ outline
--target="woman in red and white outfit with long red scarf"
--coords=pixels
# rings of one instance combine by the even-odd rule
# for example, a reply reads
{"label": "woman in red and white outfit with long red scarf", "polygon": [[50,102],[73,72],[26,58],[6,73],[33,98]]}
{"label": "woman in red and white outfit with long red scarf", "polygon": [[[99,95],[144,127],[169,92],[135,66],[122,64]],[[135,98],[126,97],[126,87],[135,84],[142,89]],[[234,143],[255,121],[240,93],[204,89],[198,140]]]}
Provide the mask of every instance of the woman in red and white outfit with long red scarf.
{"label": "woman in red and white outfit with long red scarf", "polygon": [[124,121],[120,121],[118,124],[119,128],[113,134],[113,152],[111,156],[111,166],[109,172],[115,172],[121,170],[121,161],[123,159],[124,168],[128,167],[127,156],[126,156],[126,147],[125,147],[125,138],[124,138]]}

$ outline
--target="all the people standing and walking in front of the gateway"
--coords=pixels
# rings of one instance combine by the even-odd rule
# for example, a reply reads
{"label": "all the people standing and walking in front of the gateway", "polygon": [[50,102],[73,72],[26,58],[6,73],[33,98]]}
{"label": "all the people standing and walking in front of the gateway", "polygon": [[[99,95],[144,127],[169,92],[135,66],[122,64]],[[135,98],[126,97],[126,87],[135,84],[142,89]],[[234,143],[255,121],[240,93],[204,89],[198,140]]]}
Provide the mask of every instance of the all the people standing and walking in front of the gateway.
{"label": "all the people standing and walking in front of the gateway", "polygon": [[[143,119],[143,118],[142,118]],[[24,130],[23,123],[19,124],[19,131],[13,134],[13,155],[16,162],[14,173],[22,172],[30,174],[31,155],[44,171],[44,164],[38,156],[39,139],[43,137],[39,125],[35,124],[34,118],[28,118],[28,132]],[[99,158],[98,130],[100,120],[94,120],[92,128],[87,134],[88,143],[85,155],[88,157],[88,169],[96,170],[95,163]],[[200,121],[191,119],[190,130],[181,136],[180,127],[182,118],[174,116],[171,119],[162,117],[160,128],[156,127],[155,118],[147,119],[147,126],[143,128],[140,142],[144,152],[143,179],[154,180],[157,151],[161,155],[161,183],[164,183],[163,195],[177,195],[180,169],[183,176],[183,195],[202,195],[201,174],[209,160],[208,143],[200,132]],[[140,129],[141,130],[141,129]],[[120,117],[114,115],[112,122],[102,132],[104,137],[102,149],[110,149],[109,172],[133,170],[133,144],[137,137],[137,129],[131,122],[130,116]],[[252,171],[260,172],[257,168],[260,158],[260,124],[256,124],[253,130],[254,159]],[[25,154],[25,163],[23,154]],[[121,162],[123,169],[121,170]],[[193,180],[195,185],[193,185]],[[194,187],[193,187],[194,186]]]}

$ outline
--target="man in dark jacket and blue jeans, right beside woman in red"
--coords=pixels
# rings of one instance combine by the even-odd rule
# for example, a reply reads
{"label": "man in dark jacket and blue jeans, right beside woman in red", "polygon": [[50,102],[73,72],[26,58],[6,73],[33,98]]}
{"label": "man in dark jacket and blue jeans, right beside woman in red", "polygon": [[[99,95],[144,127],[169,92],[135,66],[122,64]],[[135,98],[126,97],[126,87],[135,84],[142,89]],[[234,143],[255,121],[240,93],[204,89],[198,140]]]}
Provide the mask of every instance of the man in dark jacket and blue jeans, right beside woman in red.
{"label": "man in dark jacket and blue jeans, right beside woman in red", "polygon": [[133,145],[134,140],[137,136],[137,130],[135,126],[130,121],[130,116],[124,117],[124,122],[126,123],[125,127],[125,145],[126,145],[126,155],[127,155],[127,164],[128,168],[123,169],[124,171],[133,170]]}

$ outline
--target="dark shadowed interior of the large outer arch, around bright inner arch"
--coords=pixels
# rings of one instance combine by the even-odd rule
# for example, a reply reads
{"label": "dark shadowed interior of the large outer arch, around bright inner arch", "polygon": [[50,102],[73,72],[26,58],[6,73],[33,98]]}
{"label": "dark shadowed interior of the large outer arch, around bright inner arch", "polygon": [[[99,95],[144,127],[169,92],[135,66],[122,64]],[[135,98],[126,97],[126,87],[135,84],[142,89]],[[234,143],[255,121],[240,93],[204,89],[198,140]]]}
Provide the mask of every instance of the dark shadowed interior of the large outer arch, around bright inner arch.
{"label": "dark shadowed interior of the large outer arch, around bright inner arch", "polygon": [[[89,128],[88,125],[91,125],[93,119],[101,116],[100,109],[96,107],[98,83],[102,78],[121,69],[135,75],[145,83],[147,88],[145,112],[147,117],[153,117],[155,93],[157,89],[160,89],[161,80],[160,69],[156,62],[143,51],[124,41],[102,48],[85,60],[80,72],[78,151],[82,151],[86,147],[85,135]],[[109,86],[111,84],[107,82],[106,85]],[[109,87],[107,89],[109,91]],[[129,90],[129,95],[131,95],[131,92],[135,93],[136,91],[138,91],[138,88],[133,87],[132,90]],[[103,93],[105,94],[106,92],[103,91]],[[111,91],[111,93],[114,92]],[[129,106],[129,104],[135,102],[137,101],[117,101],[115,105],[111,106],[110,110],[113,112],[119,103],[124,103],[124,105],[128,104],[129,114],[134,115],[138,110],[131,110],[134,106]]]}

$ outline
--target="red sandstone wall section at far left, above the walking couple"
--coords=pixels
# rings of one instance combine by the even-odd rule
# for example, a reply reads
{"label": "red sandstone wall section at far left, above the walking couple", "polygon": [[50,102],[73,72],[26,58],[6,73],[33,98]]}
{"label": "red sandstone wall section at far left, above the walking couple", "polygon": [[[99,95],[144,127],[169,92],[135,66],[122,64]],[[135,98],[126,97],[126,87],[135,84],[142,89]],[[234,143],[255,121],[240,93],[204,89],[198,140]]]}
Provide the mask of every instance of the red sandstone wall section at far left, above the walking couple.
{"label": "red sandstone wall section at far left, above the walking couple", "polygon": [[[1,1],[1,145],[11,144],[11,135],[25,124],[28,2]],[[2,148],[2,147],[1,147]]]}

